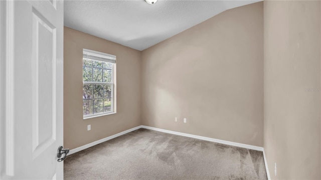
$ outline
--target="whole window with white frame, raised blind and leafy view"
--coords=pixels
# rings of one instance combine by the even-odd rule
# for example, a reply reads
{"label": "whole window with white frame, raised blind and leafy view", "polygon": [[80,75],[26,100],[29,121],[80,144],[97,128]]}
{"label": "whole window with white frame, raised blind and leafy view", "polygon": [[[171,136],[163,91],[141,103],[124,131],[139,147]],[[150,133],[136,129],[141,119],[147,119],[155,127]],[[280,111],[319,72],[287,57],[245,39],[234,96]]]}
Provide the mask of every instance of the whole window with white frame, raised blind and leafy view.
{"label": "whole window with white frame, raised blind and leafy view", "polygon": [[83,49],[83,117],[114,112],[116,56]]}

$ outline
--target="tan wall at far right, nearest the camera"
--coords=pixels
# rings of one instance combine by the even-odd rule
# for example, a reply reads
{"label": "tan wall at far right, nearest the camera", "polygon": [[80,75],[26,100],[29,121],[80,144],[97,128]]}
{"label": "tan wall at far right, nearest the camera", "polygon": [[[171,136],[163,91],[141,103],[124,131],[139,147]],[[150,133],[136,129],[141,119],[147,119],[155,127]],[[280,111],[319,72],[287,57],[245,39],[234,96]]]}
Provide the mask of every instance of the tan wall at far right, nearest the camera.
{"label": "tan wall at far right, nearest the camera", "polygon": [[272,179],[321,178],[320,15],[320,1],[264,0],[264,150]]}

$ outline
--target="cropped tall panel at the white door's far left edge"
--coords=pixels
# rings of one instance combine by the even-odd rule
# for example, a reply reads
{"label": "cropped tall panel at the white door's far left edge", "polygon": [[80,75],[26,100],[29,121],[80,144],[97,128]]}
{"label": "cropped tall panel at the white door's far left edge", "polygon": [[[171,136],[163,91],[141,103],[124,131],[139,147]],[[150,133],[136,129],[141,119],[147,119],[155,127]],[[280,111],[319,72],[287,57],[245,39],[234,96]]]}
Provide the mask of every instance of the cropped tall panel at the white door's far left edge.
{"label": "cropped tall panel at the white door's far left edge", "polygon": [[[13,1],[0,1],[0,169],[10,176],[14,174],[14,15]],[[4,163],[5,162],[5,163]]]}

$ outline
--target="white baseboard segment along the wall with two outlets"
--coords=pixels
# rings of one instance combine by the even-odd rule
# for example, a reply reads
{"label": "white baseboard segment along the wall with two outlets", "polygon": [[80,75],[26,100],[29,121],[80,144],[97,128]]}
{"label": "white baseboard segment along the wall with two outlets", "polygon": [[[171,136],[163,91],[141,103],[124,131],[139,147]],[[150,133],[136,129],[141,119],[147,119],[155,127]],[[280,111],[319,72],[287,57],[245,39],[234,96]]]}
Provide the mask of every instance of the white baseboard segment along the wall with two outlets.
{"label": "white baseboard segment along the wall with two outlets", "polygon": [[161,131],[161,132],[171,133],[171,134],[175,134],[175,135],[182,135],[182,136],[186,136],[186,137],[192,137],[192,138],[207,140],[207,141],[211,141],[211,142],[217,142],[217,143],[233,145],[233,146],[237,146],[237,147],[248,148],[248,149],[252,149],[252,150],[263,151],[263,147],[255,146],[255,145],[248,145],[248,144],[243,144],[243,143],[238,143],[238,142],[231,142],[231,141],[227,141],[227,140],[220,140],[220,139],[211,138],[211,137],[204,137],[204,136],[200,136],[200,135],[193,135],[193,134],[188,134],[188,133],[183,133],[183,132],[177,132],[177,131],[172,131],[172,130],[150,127],[150,126],[146,126],[146,125],[141,125],[141,127],[146,128],[146,129],[150,129],[150,130],[157,130],[157,131]]}

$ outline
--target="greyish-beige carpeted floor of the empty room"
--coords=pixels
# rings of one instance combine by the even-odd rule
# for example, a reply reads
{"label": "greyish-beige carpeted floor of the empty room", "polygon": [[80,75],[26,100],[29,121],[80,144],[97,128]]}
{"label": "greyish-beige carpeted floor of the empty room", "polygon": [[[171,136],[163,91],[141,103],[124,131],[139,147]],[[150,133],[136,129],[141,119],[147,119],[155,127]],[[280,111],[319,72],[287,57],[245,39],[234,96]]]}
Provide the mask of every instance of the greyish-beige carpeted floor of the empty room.
{"label": "greyish-beige carpeted floor of the empty room", "polygon": [[137,129],[65,159],[64,179],[267,179],[261,151]]}

